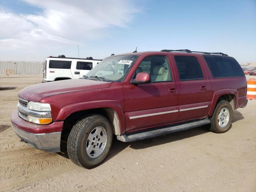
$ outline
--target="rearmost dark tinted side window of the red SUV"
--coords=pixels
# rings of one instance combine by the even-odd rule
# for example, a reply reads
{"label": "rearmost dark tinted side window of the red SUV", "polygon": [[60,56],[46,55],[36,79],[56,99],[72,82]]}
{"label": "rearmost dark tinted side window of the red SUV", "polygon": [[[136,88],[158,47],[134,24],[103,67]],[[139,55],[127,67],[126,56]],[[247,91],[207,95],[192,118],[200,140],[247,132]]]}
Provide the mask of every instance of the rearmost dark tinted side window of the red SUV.
{"label": "rearmost dark tinted side window of the red SUV", "polygon": [[242,68],[232,57],[204,55],[204,59],[214,77],[244,77]]}

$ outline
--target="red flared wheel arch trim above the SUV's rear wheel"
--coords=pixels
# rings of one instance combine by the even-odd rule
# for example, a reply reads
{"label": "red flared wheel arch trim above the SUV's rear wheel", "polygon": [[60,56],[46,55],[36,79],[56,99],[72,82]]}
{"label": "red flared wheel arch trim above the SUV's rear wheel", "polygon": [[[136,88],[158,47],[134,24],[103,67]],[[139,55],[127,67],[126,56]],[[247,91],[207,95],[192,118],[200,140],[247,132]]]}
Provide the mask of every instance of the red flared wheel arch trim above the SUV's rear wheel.
{"label": "red flared wheel arch trim above the SUV's rear wheel", "polygon": [[234,95],[234,108],[236,109],[236,106],[238,106],[238,92],[235,89],[221,89],[218,90],[214,93],[213,98],[212,98],[212,106],[210,108],[210,112],[209,115],[212,116],[215,106],[217,104],[218,98],[220,98],[220,96],[222,95],[226,95],[226,94],[232,94]]}

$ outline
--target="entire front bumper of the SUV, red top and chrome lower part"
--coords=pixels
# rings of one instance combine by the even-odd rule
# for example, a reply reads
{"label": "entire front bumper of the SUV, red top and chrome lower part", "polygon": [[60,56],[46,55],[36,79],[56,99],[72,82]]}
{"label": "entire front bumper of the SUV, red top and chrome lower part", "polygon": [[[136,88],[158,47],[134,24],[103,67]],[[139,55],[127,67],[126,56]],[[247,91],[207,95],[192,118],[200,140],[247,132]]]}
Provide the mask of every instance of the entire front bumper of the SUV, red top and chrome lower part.
{"label": "entire front bumper of the SUV, red top and chrome lower part", "polygon": [[14,132],[30,146],[47,152],[60,152],[63,121],[38,125],[20,118],[18,111],[14,111],[11,122]]}

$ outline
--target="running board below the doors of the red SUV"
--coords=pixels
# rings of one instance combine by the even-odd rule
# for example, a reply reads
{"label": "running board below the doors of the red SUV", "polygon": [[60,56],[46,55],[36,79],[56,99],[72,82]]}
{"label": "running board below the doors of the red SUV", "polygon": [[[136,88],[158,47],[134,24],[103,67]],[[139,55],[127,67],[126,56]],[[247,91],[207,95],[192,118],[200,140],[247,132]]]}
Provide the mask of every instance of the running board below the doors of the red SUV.
{"label": "running board below the doors of the red SUV", "polygon": [[176,124],[172,126],[154,128],[150,130],[142,130],[142,131],[133,132],[130,134],[125,133],[122,135],[118,135],[117,139],[122,142],[132,142],[132,141],[148,139],[148,138],[152,138],[160,135],[170,134],[178,131],[183,131],[187,129],[192,129],[192,128],[203,126],[209,123],[210,123],[210,120],[208,119],[208,117],[206,117],[203,120],[190,121],[190,122]]}

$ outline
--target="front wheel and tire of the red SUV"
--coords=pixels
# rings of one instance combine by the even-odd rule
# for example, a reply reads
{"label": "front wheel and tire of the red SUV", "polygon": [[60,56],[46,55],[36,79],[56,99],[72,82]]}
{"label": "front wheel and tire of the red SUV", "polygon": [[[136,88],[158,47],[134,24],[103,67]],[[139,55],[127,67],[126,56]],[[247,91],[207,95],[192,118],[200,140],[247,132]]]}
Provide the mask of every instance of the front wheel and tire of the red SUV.
{"label": "front wheel and tire of the red SUV", "polygon": [[112,126],[106,117],[86,115],[76,122],[68,136],[68,156],[78,166],[94,168],[106,158],[112,138]]}

